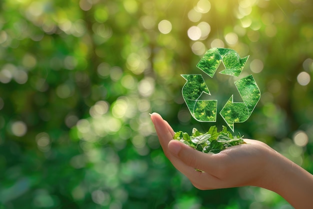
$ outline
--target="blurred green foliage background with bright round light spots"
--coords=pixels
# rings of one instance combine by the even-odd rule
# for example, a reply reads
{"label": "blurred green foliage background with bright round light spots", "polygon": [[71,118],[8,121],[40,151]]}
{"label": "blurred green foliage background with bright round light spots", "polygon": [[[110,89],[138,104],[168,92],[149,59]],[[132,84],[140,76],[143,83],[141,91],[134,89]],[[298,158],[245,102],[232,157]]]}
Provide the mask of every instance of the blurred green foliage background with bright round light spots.
{"label": "blurred green foliage background with bright round light spots", "polygon": [[[235,132],[313,173],[312,9],[310,0],[0,1],[0,208],[292,208],[262,188],[195,189],[164,157],[148,113],[176,131],[221,129],[221,118],[191,118],[180,74],[201,73],[212,47],[234,49],[250,56],[242,74],[261,91]],[[219,104],[236,94],[232,82],[207,79]]]}

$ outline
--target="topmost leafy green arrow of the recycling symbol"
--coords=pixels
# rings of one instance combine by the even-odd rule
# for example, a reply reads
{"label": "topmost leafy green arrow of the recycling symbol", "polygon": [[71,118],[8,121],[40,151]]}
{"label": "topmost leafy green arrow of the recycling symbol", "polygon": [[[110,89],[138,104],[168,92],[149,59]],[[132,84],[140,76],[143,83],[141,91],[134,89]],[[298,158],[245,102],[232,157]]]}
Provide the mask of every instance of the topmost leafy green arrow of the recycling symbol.
{"label": "topmost leafy green arrow of the recycling symbol", "polygon": [[220,62],[222,62],[225,70],[219,73],[238,77],[248,57],[240,58],[232,49],[211,48],[206,51],[196,67],[213,78]]}

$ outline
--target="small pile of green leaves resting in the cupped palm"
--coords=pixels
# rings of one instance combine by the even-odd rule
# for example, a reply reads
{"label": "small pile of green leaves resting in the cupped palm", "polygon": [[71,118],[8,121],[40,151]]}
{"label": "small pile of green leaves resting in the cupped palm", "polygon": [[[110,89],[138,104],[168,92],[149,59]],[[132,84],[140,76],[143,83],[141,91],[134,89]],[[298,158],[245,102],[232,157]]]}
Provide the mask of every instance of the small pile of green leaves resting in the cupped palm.
{"label": "small pile of green leaves resting in the cupped palm", "polygon": [[222,126],[220,132],[217,132],[216,126],[211,126],[206,133],[200,133],[196,128],[193,128],[190,136],[182,131],[175,132],[173,139],[201,152],[218,153],[227,147],[245,144],[242,137],[232,136],[225,126]]}

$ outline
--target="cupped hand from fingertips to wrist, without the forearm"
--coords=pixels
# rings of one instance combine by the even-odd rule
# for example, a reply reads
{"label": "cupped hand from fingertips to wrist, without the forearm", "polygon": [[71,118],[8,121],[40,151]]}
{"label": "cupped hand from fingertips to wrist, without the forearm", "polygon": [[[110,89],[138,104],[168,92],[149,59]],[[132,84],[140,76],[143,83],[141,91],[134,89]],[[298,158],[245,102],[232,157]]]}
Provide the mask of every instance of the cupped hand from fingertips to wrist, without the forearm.
{"label": "cupped hand from fingertips to wrist, without the forearm", "polygon": [[172,140],[174,131],[160,115],[153,113],[151,119],[166,157],[198,189],[260,186],[270,169],[270,156],[276,155],[266,144],[251,139],[217,154],[203,153]]}

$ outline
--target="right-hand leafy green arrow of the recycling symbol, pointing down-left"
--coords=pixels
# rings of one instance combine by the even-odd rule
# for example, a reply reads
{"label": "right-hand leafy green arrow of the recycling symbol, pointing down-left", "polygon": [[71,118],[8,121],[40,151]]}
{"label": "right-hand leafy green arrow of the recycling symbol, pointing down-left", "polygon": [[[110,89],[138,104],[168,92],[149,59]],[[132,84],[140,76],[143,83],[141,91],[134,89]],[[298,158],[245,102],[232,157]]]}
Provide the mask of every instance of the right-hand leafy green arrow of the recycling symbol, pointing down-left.
{"label": "right-hand leafy green arrow of the recycling symbol, pointing down-left", "polygon": [[229,128],[233,131],[234,123],[246,121],[260,99],[260,90],[252,75],[234,82],[243,102],[233,102],[233,95],[220,111]]}

